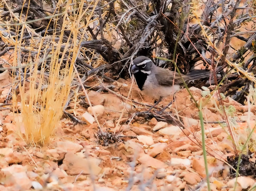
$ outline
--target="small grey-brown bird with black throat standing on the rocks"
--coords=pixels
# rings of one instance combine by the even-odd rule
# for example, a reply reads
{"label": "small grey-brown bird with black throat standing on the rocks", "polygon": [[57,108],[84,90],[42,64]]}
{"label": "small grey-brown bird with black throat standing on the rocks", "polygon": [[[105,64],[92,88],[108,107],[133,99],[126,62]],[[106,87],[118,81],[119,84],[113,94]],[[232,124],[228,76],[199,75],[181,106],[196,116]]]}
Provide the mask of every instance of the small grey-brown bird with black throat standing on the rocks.
{"label": "small grey-brown bird with black throat standing on the rocks", "polygon": [[[210,71],[194,70],[188,75],[179,75],[179,73],[157,67],[150,58],[138,56],[133,60],[132,73],[140,90],[153,97],[161,100],[180,90],[182,85],[181,77],[185,82],[201,78],[210,77]],[[173,85],[174,79],[174,85]]]}

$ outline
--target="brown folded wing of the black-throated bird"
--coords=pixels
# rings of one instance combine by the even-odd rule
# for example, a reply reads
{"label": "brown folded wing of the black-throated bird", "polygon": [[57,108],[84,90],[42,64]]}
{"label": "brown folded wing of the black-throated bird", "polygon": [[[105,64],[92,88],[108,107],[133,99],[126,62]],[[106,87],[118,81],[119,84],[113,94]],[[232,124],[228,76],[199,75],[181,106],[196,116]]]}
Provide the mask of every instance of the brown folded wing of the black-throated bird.
{"label": "brown folded wing of the black-throated bird", "polygon": [[[182,84],[182,80],[178,72],[157,67],[155,75],[156,75],[158,84],[160,85],[172,85],[174,75],[175,75],[174,84]],[[184,79],[184,81],[187,81],[190,79],[190,77],[185,76],[183,74],[181,76]]]}

